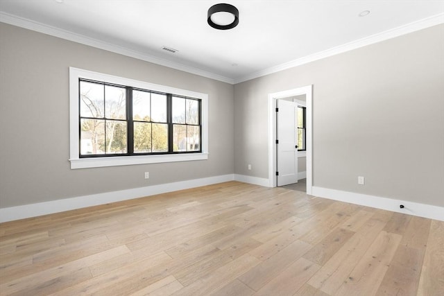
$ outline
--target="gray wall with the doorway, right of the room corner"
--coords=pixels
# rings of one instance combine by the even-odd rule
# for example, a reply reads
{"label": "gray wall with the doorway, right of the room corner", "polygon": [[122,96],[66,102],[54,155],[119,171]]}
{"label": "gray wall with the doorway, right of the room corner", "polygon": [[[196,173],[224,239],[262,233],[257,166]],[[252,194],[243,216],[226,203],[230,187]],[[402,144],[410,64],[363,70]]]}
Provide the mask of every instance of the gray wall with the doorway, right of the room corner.
{"label": "gray wall with the doorway, right of the room corner", "polygon": [[434,26],[235,85],[234,172],[268,178],[268,94],[312,84],[314,186],[443,207],[443,36]]}

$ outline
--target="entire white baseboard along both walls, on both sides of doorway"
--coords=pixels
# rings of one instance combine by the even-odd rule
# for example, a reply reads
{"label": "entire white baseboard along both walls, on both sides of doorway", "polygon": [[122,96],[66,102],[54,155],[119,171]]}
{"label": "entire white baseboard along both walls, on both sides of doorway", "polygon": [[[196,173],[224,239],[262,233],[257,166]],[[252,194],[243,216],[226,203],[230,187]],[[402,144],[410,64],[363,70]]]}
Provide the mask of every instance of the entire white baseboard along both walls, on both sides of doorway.
{"label": "entire white baseboard along both walls, on both sides of doorway", "polygon": [[[206,177],[202,179],[146,186],[135,189],[84,195],[76,198],[52,200],[50,202],[24,204],[17,207],[6,207],[0,209],[0,223],[53,214],[61,211],[69,211],[72,209],[92,207],[100,204],[107,204],[110,202],[131,200],[133,198],[141,198],[149,195],[167,193],[182,189],[190,189],[198,186],[217,184],[232,180],[255,184],[259,186],[269,186],[268,179],[260,177],[238,174],[220,175],[215,177]],[[380,198],[373,195],[339,191],[335,189],[326,189],[317,186],[312,187],[312,195],[319,196],[321,198],[329,198],[331,200],[339,200],[341,202],[350,202],[352,204],[360,204],[367,207],[385,209],[388,211],[395,211],[398,213],[444,221],[444,207],[437,207],[430,204],[420,204],[418,202],[409,202],[407,200],[393,200],[391,198]],[[404,209],[400,209],[400,204],[404,205]]]}

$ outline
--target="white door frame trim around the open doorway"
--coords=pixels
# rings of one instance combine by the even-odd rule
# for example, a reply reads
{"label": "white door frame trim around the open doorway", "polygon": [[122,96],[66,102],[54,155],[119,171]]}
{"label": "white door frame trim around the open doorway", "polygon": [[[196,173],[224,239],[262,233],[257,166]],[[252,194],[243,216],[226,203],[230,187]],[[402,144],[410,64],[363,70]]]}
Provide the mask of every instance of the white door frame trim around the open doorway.
{"label": "white door frame trim around the open doorway", "polygon": [[311,195],[313,180],[312,173],[312,104],[313,104],[313,85],[288,89],[283,92],[268,94],[268,186],[276,186],[276,99],[288,98],[289,96],[300,96],[305,94],[307,103],[305,109],[305,149],[307,157],[307,194]]}

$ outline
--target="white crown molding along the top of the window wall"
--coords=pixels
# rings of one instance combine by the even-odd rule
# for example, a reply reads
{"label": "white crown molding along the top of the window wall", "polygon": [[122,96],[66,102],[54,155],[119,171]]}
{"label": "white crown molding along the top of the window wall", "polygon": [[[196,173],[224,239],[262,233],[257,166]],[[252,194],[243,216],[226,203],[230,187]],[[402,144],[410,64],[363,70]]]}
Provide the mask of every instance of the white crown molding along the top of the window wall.
{"label": "white crown molding along the top of the window wall", "polygon": [[165,60],[162,58],[156,58],[153,55],[147,55],[146,53],[141,53],[139,51],[134,51],[133,49],[128,49],[122,46],[104,42],[102,40],[97,40],[85,35],[80,35],[73,33],[71,31],[66,31],[54,26],[49,26],[42,24],[37,21],[31,21],[30,19],[25,19],[22,17],[17,17],[16,15],[10,15],[6,12],[0,12],[0,21],[13,26],[19,26],[21,28],[26,28],[28,30],[36,31],[39,33],[44,33],[54,37],[59,37],[65,40],[77,42],[80,44],[85,44],[88,46],[96,47],[97,49],[103,49],[105,51],[111,51],[113,53],[119,53],[121,55],[126,55],[131,58],[137,58],[138,60],[144,60],[146,62],[152,62],[154,64],[160,64],[164,67],[169,67],[172,69],[185,71],[187,73],[196,74],[198,76],[203,76],[206,78],[211,78],[214,80],[219,80],[222,82],[234,84],[234,79],[221,76],[216,73],[204,71],[198,68],[190,67],[185,64],[180,64],[178,62],[172,62],[170,60]]}

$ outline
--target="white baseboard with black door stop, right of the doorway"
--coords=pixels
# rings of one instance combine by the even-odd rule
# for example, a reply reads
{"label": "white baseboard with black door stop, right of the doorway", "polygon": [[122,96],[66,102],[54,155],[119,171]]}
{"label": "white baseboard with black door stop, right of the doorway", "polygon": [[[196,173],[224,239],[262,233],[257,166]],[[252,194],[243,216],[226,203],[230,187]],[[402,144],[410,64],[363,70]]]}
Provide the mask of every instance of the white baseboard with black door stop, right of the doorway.
{"label": "white baseboard with black door stop, right of the doorway", "polygon": [[[312,195],[330,200],[339,200],[341,202],[350,202],[376,209],[385,209],[402,214],[420,216],[434,220],[444,221],[444,207],[438,207],[431,204],[420,204],[418,202],[409,202],[407,200],[393,200],[391,198],[380,198],[379,196],[366,195],[361,193],[352,193],[335,189],[327,189],[313,186]],[[400,208],[400,204],[404,208]]]}

